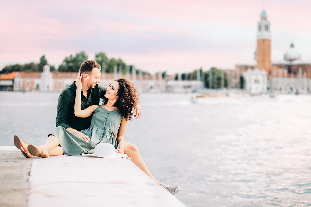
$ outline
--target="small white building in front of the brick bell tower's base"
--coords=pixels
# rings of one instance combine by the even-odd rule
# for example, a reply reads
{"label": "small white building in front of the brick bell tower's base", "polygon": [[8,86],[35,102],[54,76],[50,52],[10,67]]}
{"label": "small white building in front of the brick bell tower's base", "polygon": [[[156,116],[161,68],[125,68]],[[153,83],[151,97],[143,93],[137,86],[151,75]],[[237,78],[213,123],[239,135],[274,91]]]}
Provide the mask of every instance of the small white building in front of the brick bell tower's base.
{"label": "small white building in front of the brick bell tower's base", "polygon": [[255,68],[254,70],[248,69],[243,73],[243,78],[245,80],[244,89],[251,94],[260,94],[267,92],[267,71],[259,70]]}

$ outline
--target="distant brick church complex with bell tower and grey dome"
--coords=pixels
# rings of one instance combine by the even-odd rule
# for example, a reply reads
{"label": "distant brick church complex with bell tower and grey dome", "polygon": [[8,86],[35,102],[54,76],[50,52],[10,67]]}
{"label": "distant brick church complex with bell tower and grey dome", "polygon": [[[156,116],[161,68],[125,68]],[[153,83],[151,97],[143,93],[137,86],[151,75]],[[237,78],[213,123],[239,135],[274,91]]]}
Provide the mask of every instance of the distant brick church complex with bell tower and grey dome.
{"label": "distant brick church complex with bell tower and grey dome", "polygon": [[257,48],[251,64],[235,65],[235,75],[229,79],[231,88],[240,88],[241,77],[247,70],[265,70],[267,72],[267,88],[277,91],[310,91],[311,61],[301,61],[301,55],[291,43],[284,54],[284,61],[271,62],[270,22],[266,10],[262,10],[258,22]]}

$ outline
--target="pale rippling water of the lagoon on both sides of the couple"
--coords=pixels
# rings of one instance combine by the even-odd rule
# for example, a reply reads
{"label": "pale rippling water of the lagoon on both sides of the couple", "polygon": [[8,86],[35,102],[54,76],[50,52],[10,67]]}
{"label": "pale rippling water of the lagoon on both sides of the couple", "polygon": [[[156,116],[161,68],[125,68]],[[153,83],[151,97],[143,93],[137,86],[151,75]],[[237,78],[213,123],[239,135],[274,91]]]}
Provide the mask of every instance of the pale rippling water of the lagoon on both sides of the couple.
{"label": "pale rippling water of the lagoon on both sides of the couple", "polygon": [[[0,145],[44,143],[58,94],[0,92]],[[311,96],[192,96],[143,93],[128,122],[125,140],[156,179],[179,185],[187,206],[311,206]]]}

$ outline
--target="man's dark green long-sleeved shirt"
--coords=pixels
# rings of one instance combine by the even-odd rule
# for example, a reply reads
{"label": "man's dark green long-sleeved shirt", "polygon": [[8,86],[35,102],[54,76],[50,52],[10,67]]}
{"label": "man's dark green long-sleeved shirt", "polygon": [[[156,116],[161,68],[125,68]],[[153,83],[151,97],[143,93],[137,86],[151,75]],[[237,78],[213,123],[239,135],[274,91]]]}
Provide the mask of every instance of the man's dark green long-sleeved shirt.
{"label": "man's dark green long-sleeved shirt", "polygon": [[[63,128],[74,128],[78,131],[84,130],[90,127],[92,116],[87,118],[80,118],[75,116],[75,98],[76,98],[77,86],[75,83],[64,88],[59,94],[57,104],[57,116],[56,126],[62,126]],[[98,84],[94,88],[87,90],[87,98],[83,96],[81,91],[81,110],[86,109],[92,105],[99,105],[100,98],[104,98],[106,88]]]}

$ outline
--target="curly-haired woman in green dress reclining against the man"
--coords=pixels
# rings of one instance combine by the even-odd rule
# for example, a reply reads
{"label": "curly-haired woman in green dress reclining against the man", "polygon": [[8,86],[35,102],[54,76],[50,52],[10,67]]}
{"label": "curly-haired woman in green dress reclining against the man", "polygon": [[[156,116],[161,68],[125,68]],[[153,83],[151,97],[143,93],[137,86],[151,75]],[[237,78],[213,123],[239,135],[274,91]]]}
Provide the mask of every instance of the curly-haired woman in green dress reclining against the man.
{"label": "curly-haired woman in green dress reclining against the man", "polygon": [[108,99],[107,103],[104,103],[103,100],[101,106],[94,105],[81,110],[81,78],[82,75],[79,73],[76,79],[75,115],[77,117],[89,117],[94,113],[90,128],[81,131],[90,137],[90,141],[81,139],[81,137],[60,126],[49,133],[44,145],[28,145],[15,136],[14,143],[21,143],[20,145],[16,144],[17,147],[28,148],[28,151],[23,153],[25,157],[33,155],[47,158],[50,155],[89,154],[93,153],[96,144],[103,142],[114,145],[119,153],[124,152],[125,126],[127,121],[132,119],[131,110],[134,103],[138,101],[136,88],[127,79],[117,79],[109,85],[104,95]]}

